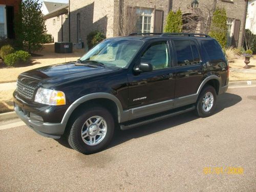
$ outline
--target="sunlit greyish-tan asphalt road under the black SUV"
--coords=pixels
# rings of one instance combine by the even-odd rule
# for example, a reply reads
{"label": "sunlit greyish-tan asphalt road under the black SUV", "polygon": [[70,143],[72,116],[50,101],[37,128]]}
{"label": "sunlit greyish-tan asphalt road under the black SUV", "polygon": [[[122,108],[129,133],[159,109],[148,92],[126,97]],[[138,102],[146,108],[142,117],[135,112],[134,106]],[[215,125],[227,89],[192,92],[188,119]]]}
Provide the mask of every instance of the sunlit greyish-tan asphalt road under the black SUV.
{"label": "sunlit greyish-tan asphalt road under the black SUV", "polygon": [[186,113],[119,131],[88,156],[26,126],[0,130],[0,191],[256,191],[255,172],[255,87],[229,89],[208,118]]}

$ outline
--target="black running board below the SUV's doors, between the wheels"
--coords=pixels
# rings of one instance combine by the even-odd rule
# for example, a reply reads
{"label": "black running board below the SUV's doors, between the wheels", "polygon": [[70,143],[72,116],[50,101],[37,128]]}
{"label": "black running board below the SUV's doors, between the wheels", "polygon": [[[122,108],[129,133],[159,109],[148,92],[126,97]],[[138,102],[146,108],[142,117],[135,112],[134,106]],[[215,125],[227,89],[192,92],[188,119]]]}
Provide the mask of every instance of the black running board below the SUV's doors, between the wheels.
{"label": "black running board below the SUV's doors, between the wheels", "polygon": [[[142,126],[144,124],[148,124],[148,123],[152,123],[152,122],[155,122],[155,121],[159,121],[159,120],[162,120],[162,119],[165,119],[165,118],[168,118],[168,117],[173,117],[173,116],[176,116],[176,115],[180,115],[182,113],[186,113],[186,112],[189,112],[189,111],[193,111],[196,109],[196,106],[193,105],[193,106],[190,106],[189,108],[186,108],[186,109],[182,109],[182,110],[179,110],[179,111],[172,111],[172,112],[165,112],[165,113],[161,113],[160,115],[154,115],[154,116],[151,116],[150,118],[146,119],[146,120],[142,120],[140,118],[140,120],[135,120],[135,121],[130,121],[130,122],[125,122],[125,124],[120,124],[120,129],[121,130],[129,130],[129,129],[132,129],[136,126]],[[146,118],[146,117],[145,117]],[[143,118],[143,119],[145,119]]]}

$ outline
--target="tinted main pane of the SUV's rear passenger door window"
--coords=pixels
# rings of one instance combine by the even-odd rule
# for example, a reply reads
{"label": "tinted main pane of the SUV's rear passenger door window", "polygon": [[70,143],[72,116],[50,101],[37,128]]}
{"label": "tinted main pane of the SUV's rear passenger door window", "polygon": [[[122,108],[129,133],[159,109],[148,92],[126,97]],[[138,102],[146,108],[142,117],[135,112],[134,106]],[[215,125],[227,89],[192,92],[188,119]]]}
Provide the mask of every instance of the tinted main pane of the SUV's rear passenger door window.
{"label": "tinted main pane of the SUV's rear passenger door window", "polygon": [[188,40],[175,40],[175,49],[177,53],[178,66],[187,66],[193,64],[193,54]]}

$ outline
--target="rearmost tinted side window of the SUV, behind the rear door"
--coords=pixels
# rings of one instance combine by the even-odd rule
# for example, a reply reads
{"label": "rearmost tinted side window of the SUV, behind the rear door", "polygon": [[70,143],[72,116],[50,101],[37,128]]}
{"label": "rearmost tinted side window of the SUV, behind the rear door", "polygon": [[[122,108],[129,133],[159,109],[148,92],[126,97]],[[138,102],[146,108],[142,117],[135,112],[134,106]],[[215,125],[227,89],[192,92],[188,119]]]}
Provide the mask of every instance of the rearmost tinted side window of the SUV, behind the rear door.
{"label": "rearmost tinted side window of the SUV, behind the rear door", "polygon": [[202,43],[208,53],[210,62],[221,62],[226,60],[222,48],[216,40],[203,40]]}

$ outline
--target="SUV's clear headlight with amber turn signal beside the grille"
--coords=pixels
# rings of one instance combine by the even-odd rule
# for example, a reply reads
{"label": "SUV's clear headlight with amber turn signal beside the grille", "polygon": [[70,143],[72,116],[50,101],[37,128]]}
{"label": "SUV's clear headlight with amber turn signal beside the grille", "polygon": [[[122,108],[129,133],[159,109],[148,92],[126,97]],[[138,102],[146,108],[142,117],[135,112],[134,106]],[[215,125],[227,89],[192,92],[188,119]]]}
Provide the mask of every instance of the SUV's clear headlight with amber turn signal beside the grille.
{"label": "SUV's clear headlight with amber turn signal beside the grille", "polygon": [[35,102],[48,105],[63,105],[66,104],[66,98],[62,91],[39,88],[35,94]]}

